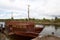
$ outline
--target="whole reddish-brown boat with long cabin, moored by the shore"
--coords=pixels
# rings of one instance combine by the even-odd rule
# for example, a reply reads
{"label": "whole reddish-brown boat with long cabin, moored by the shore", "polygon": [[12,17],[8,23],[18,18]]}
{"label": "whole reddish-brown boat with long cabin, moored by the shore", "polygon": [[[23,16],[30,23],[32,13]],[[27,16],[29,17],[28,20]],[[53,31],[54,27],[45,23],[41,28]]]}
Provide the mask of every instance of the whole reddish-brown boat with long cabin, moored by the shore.
{"label": "whole reddish-brown boat with long cabin, moored by the shore", "polygon": [[20,35],[35,38],[43,30],[43,27],[35,27],[32,21],[6,21],[6,29],[8,35]]}

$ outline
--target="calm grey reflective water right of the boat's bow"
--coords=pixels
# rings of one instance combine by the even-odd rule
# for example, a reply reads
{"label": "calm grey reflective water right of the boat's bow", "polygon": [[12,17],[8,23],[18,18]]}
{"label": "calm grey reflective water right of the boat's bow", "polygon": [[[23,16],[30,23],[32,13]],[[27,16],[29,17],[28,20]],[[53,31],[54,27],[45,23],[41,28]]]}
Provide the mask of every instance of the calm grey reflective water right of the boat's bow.
{"label": "calm grey reflective water right of the boat's bow", "polygon": [[60,25],[45,25],[40,35],[52,35],[52,32],[55,36],[60,37]]}

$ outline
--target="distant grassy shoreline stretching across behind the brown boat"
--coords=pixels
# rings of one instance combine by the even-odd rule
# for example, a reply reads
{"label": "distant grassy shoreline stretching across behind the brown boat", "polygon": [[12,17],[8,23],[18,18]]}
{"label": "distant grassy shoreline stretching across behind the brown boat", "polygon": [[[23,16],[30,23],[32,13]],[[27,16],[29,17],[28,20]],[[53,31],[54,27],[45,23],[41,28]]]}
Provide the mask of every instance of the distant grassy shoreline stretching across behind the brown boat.
{"label": "distant grassy shoreline stretching across behind the brown boat", "polygon": [[[5,22],[5,21],[10,21],[10,20],[15,20],[15,21],[28,21],[28,19],[0,19],[0,22]],[[58,20],[40,20],[40,19],[30,19],[29,21],[35,22],[35,24],[43,24],[43,25],[60,25],[60,19]]]}

